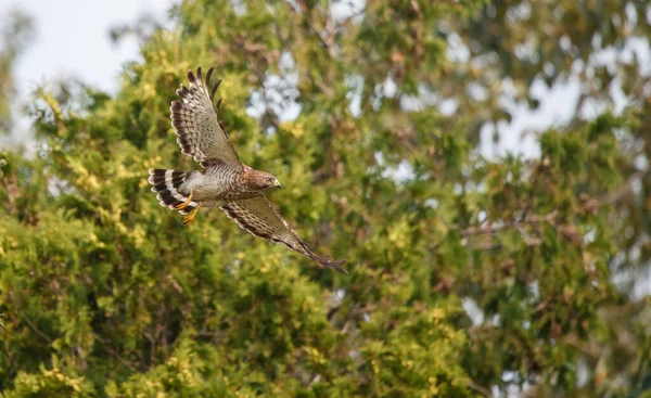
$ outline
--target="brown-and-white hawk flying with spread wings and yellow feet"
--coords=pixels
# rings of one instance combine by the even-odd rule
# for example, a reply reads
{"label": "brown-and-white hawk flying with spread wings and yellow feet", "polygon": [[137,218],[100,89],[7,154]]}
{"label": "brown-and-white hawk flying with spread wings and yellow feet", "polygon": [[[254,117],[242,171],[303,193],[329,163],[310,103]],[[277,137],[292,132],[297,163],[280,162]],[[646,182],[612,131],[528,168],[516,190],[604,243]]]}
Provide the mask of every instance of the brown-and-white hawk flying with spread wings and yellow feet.
{"label": "brown-and-white hawk flying with spread wings and yellow feet", "polygon": [[221,84],[217,80],[208,91],[210,75],[205,85],[201,66],[196,75],[188,70],[189,85],[176,91],[181,101],[170,106],[171,126],[177,134],[181,153],[194,157],[203,169],[171,170],[150,169],[149,183],[162,206],[183,215],[183,226],[194,220],[200,207],[219,207],[240,228],[251,234],[277,243],[317,260],[336,271],[346,260],[334,261],[317,256],[310,251],[276,207],[267,200],[264,191],[280,189],[280,182],[269,172],[258,171],[240,161],[222,123],[217,118],[221,99],[213,106],[215,92]]}

